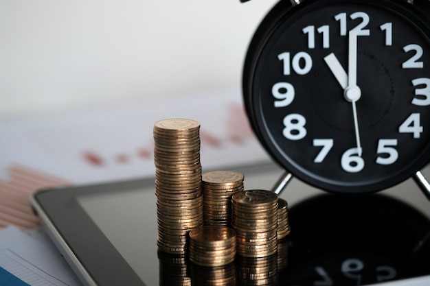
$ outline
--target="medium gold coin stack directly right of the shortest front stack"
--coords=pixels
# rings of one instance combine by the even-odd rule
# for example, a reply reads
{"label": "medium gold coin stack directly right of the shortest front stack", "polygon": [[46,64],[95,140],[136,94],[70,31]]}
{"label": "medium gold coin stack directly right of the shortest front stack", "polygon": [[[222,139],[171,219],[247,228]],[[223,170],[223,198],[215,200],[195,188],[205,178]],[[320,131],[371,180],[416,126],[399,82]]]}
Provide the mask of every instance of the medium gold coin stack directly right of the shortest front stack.
{"label": "medium gold coin stack directly right of the shortest front stack", "polygon": [[235,193],[231,198],[231,226],[237,253],[269,257],[278,252],[278,195],[265,190]]}

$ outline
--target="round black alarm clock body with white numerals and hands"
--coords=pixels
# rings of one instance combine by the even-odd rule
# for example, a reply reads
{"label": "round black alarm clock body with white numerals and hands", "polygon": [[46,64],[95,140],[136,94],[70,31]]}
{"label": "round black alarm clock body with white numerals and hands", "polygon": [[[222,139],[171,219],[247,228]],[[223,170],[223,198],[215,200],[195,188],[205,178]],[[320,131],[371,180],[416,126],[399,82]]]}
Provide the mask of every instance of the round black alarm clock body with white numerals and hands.
{"label": "round black alarm clock body with white numerals and hands", "polygon": [[297,178],[387,189],[430,158],[430,1],[280,1],[245,60],[247,115]]}

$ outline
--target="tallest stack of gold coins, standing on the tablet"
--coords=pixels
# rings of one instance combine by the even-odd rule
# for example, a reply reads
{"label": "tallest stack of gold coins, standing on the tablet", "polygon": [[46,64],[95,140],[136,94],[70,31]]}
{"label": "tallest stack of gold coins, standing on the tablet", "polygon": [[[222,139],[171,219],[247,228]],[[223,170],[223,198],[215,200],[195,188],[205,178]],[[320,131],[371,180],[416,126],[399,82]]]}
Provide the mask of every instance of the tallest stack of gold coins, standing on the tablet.
{"label": "tallest stack of gold coins, standing on the tablet", "polygon": [[188,232],[203,225],[199,130],[190,119],[154,124],[157,244],[163,252],[187,252]]}

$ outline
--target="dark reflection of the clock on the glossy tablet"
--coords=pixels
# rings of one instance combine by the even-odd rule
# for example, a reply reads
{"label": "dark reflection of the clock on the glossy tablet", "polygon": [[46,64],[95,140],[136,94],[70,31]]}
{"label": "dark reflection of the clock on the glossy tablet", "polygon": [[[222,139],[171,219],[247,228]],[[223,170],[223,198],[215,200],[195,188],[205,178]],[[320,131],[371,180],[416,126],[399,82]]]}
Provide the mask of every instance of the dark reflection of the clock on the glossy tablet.
{"label": "dark reflection of the clock on the glossy tablet", "polygon": [[280,285],[367,285],[430,274],[429,219],[403,202],[326,194],[289,214],[290,257]]}

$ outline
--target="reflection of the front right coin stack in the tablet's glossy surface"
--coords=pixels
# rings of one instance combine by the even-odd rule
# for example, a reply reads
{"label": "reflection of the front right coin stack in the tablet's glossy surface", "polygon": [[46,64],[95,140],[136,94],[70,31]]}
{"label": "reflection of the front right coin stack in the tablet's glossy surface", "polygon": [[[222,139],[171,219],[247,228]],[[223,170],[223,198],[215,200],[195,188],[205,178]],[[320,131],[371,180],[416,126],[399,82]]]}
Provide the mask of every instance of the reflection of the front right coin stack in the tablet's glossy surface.
{"label": "reflection of the front right coin stack in the tablet's glossy surface", "polygon": [[238,286],[276,286],[279,285],[277,255],[269,257],[238,257]]}

